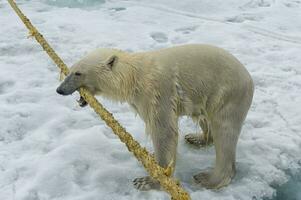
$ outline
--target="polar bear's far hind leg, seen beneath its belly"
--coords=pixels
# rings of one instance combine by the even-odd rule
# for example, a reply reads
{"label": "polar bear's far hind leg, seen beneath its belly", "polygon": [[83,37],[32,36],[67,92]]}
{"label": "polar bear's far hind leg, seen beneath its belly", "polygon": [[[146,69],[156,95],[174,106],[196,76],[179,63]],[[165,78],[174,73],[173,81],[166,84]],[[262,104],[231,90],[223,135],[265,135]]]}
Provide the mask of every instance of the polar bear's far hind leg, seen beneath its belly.
{"label": "polar bear's far hind leg, seen beneath its belly", "polygon": [[213,144],[213,138],[208,120],[206,118],[201,118],[199,124],[203,133],[189,133],[185,135],[186,142],[196,147],[204,147]]}

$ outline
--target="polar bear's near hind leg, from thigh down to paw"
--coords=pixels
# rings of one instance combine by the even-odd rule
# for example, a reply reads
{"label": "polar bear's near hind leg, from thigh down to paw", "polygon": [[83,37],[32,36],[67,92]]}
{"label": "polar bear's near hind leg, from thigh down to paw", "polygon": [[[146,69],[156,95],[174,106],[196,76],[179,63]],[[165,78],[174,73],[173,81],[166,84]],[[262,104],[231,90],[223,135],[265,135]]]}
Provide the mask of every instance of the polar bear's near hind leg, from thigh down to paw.
{"label": "polar bear's near hind leg, from thigh down to paw", "polygon": [[238,116],[236,113],[232,117],[226,115],[212,120],[215,167],[213,171],[202,172],[193,177],[196,183],[205,188],[218,189],[227,186],[235,175],[236,145],[244,119],[244,116],[240,119]]}

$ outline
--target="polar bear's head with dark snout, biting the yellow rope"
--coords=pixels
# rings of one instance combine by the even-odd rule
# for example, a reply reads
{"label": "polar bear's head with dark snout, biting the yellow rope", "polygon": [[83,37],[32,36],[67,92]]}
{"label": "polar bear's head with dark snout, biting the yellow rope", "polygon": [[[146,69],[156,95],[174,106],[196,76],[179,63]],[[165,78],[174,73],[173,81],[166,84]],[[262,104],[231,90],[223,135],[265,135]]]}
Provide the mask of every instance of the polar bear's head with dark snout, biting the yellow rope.
{"label": "polar bear's head with dark snout, biting the yellow rope", "polygon": [[56,91],[61,95],[70,95],[80,87],[84,87],[93,95],[110,93],[112,85],[117,84],[114,69],[117,62],[116,50],[95,50],[70,68],[69,74]]}

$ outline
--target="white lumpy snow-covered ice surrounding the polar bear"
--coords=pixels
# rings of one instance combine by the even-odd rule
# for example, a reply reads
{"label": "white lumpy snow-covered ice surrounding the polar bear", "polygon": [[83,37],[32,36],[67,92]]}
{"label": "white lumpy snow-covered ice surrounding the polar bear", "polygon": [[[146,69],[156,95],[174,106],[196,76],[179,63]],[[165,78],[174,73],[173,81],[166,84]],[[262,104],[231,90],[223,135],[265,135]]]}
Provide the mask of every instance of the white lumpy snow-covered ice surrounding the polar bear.
{"label": "white lumpy snow-covered ice surrounding the polar bear", "polygon": [[[223,47],[250,71],[256,91],[237,149],[237,175],[206,190],[192,175],[214,164],[214,148],[193,149],[180,120],[176,177],[192,199],[270,198],[301,164],[301,2],[297,0],[17,1],[70,66],[88,51],[147,51],[187,43]],[[0,0],[0,199],[169,199],[140,192],[146,172],[78,95],[56,94],[57,67],[8,3]],[[126,104],[101,102],[152,151]],[[300,196],[299,196],[300,197]]]}

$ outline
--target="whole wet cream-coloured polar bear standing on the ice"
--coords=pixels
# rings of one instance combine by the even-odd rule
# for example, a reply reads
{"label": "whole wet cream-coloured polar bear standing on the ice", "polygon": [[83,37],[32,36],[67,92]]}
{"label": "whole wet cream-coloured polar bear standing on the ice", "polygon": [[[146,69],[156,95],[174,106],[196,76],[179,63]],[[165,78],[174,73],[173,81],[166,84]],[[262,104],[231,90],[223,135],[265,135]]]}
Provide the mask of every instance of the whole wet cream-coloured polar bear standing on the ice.
{"label": "whole wet cream-coloured polar bear standing on the ice", "polygon": [[[80,87],[129,103],[145,122],[155,159],[164,168],[176,163],[178,118],[190,116],[202,134],[188,134],[186,141],[213,143],[216,150],[215,167],[195,175],[196,183],[215,189],[230,183],[254,90],[250,74],[230,53],[203,44],[138,53],[97,49],[72,66],[57,92],[69,95]],[[133,182],[140,190],[160,188],[149,176]]]}

